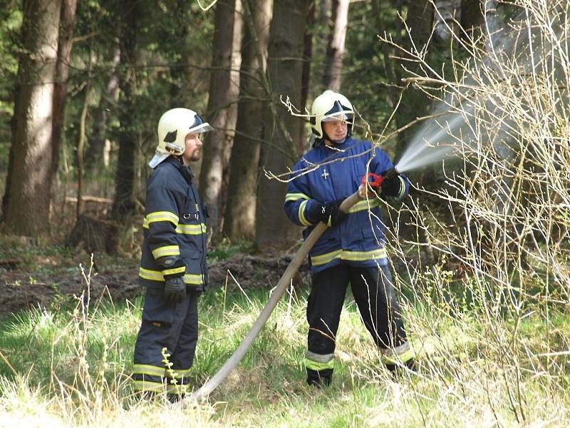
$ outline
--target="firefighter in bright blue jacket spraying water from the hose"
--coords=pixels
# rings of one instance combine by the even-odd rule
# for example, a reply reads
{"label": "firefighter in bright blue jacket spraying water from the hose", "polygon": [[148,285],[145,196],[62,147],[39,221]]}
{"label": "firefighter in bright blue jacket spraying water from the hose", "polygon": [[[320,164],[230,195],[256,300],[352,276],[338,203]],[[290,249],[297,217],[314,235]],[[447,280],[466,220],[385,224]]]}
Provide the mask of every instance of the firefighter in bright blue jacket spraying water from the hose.
{"label": "firefighter in bright blue jacket spraying water from the hose", "polygon": [[307,303],[307,382],[331,383],[336,332],[348,283],[364,325],[391,372],[414,368],[385,250],[380,199],[402,200],[409,181],[402,174],[385,178],[374,198],[361,200],[348,213],[338,206],[355,193],[366,173],[385,175],[388,155],[369,141],[352,138],[353,106],[324,91],[311,106],[313,148],[294,166],[284,210],[306,238],[318,222],[328,228],[309,253],[311,293]]}

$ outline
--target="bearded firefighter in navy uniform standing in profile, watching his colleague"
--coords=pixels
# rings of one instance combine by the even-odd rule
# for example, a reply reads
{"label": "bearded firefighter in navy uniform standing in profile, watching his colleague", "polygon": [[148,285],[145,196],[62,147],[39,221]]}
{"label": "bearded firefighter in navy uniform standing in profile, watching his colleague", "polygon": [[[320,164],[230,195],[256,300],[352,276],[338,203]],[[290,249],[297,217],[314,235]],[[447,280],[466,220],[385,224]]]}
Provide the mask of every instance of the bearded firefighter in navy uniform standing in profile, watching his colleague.
{"label": "bearded firefighter in navy uniform standing in profile, watching his colleague", "polygon": [[134,389],[185,394],[198,340],[198,297],[207,286],[206,211],[190,162],[198,161],[208,123],[188,108],[158,122],[150,160],[139,282],[146,287],[135,344]]}

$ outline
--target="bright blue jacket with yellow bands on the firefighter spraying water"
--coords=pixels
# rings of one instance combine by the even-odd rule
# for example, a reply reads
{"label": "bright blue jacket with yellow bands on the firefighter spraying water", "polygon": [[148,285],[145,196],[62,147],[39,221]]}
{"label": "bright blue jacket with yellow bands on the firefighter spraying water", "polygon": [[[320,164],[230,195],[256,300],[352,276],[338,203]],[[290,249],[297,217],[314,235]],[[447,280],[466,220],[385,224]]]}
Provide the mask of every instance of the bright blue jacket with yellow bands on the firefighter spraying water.
{"label": "bright blue jacket with yellow bands on the firefighter spraying water", "polygon": [[[373,148],[369,141],[347,138],[332,148],[325,145],[313,148],[294,166],[285,213],[293,223],[307,226],[303,232],[306,238],[315,225],[306,216],[311,204],[347,198],[358,190],[364,174],[382,174],[390,168],[393,164],[388,155]],[[410,186],[408,178],[400,177],[405,185],[396,200],[407,195]],[[363,267],[387,264],[379,205],[377,198],[361,200],[340,225],[328,228],[309,253],[311,270],[318,272],[340,263]]]}

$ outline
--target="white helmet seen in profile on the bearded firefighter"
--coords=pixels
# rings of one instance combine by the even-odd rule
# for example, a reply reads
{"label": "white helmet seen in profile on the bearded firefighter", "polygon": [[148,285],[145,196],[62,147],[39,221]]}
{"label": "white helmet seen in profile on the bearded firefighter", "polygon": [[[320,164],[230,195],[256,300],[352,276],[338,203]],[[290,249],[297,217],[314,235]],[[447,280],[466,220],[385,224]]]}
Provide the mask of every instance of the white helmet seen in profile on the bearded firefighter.
{"label": "white helmet seen in profile on the bearded firefighter", "polygon": [[189,133],[212,131],[212,126],[204,122],[198,113],[189,108],[172,108],[158,121],[158,146],[155,156],[148,165],[150,168],[164,161],[168,156],[180,156],[185,151],[185,139]]}

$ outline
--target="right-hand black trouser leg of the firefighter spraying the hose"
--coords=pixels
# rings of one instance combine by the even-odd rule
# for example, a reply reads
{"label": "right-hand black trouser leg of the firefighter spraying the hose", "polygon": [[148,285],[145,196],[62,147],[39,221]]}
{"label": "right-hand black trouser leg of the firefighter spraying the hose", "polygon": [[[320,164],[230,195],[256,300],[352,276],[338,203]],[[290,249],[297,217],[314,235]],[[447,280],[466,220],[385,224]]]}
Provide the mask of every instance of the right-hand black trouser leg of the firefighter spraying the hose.
{"label": "right-hand black trouser leg of the firefighter spraying the hose", "polygon": [[388,266],[352,267],[351,286],[366,329],[388,369],[413,362]]}

